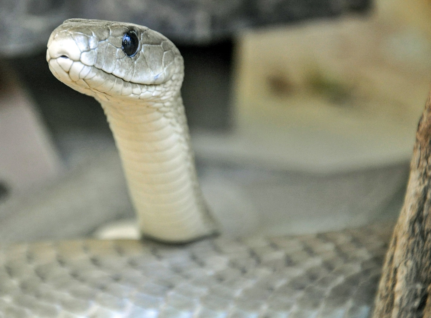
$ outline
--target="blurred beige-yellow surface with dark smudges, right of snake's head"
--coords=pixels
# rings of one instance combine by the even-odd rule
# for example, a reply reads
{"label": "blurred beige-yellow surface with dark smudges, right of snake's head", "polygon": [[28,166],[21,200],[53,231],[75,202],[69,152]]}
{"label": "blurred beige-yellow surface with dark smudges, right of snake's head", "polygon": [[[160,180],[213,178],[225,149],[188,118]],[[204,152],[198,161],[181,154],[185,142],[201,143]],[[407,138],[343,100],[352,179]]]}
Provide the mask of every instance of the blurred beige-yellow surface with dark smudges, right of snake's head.
{"label": "blurred beige-yellow surface with dark smudges, right of snake's head", "polygon": [[431,83],[430,12],[428,1],[377,0],[365,18],[244,33],[237,139],[300,169],[408,160]]}

